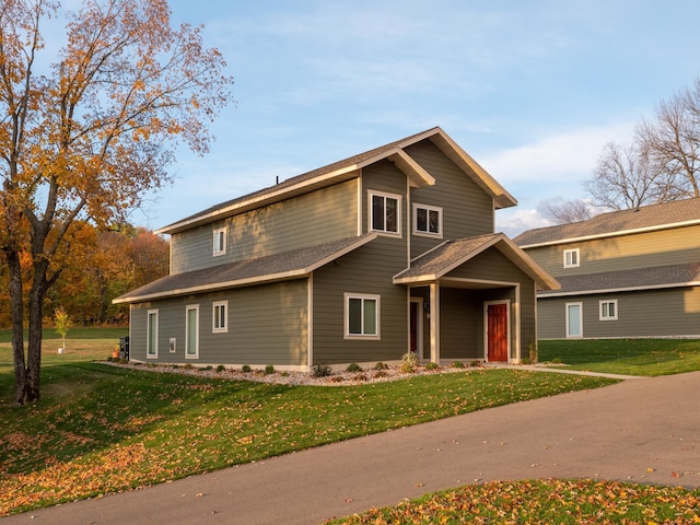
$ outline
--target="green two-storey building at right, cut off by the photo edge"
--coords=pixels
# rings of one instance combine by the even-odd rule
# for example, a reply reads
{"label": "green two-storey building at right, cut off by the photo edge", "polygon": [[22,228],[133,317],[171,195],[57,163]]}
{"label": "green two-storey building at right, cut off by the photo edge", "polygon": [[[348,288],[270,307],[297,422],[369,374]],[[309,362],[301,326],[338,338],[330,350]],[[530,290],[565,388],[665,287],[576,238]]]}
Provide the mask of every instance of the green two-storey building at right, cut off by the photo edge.
{"label": "green two-storey building at right, cut off by the photo edge", "polygon": [[700,338],[700,199],[530,230],[515,242],[561,283],[540,339]]}

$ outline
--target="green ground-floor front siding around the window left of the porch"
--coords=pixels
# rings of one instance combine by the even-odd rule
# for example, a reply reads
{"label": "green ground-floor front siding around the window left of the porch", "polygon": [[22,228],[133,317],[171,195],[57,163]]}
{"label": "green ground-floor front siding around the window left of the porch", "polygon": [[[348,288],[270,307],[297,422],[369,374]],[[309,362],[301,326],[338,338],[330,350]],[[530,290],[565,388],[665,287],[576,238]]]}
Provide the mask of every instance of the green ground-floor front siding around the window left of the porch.
{"label": "green ground-floor front siding around the window left of the porch", "polygon": [[[316,363],[398,360],[408,350],[408,295],[392,278],[405,262],[400,238],[380,237],[314,272]],[[345,294],[380,296],[380,338],[348,339]]]}

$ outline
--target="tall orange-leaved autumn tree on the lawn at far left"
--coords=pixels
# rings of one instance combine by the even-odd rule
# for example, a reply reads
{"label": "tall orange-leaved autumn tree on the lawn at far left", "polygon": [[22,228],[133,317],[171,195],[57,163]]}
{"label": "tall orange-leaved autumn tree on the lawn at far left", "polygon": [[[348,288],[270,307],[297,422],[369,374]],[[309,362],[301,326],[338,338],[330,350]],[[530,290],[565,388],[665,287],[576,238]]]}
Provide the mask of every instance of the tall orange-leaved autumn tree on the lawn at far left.
{"label": "tall orange-leaved autumn tree on the lawn at far left", "polygon": [[[50,51],[44,26],[59,20],[66,43],[42,60]],[[171,25],[166,0],[84,0],[78,11],[50,0],[0,3],[0,246],[16,402],[39,398],[44,299],[65,269],[73,225],[121,222],[144,191],[170,182],[179,142],[207,151],[207,122],[232,82],[224,66],[201,28]]]}

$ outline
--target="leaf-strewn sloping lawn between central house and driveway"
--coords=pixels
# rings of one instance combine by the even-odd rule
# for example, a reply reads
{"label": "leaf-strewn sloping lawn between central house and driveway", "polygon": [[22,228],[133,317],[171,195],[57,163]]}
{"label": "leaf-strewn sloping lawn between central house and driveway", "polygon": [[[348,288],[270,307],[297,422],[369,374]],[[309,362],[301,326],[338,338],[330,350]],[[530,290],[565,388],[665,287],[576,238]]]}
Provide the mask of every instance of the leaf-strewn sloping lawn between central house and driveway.
{"label": "leaf-strewn sloping lawn between central house and driveway", "polygon": [[474,369],[318,387],[51,366],[38,404],[0,405],[0,515],[611,383]]}

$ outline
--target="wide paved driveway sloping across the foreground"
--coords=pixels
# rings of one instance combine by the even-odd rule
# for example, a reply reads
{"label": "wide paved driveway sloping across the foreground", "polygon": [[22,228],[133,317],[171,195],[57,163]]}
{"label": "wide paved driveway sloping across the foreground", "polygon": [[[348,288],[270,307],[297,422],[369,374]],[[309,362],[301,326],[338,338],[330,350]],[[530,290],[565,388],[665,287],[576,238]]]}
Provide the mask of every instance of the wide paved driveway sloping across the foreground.
{"label": "wide paved driveway sloping across the foreground", "polygon": [[700,372],[483,410],[0,523],[318,524],[459,485],[550,477],[700,487]]}

